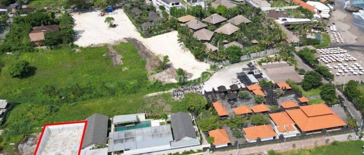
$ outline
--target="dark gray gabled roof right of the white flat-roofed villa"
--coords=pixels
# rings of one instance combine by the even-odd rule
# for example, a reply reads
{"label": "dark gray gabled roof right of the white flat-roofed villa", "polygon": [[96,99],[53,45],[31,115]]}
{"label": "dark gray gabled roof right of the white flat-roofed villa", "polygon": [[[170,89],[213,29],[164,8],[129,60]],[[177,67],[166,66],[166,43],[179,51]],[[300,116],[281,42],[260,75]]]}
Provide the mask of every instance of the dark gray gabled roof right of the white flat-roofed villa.
{"label": "dark gray gabled roof right of the white flat-roofed villa", "polygon": [[177,112],[173,114],[171,116],[171,123],[175,141],[182,140],[185,137],[196,139],[196,133],[188,113]]}

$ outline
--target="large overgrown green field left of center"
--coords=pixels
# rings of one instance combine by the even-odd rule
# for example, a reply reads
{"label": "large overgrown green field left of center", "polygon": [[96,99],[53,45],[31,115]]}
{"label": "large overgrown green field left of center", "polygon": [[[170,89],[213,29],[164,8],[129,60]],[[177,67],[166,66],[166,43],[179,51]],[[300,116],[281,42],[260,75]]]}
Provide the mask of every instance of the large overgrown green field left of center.
{"label": "large overgrown green field left of center", "polygon": [[[0,140],[10,155],[15,154],[9,143],[17,143],[25,135],[40,131],[45,123],[83,120],[93,113],[110,117],[119,114],[147,112],[159,115],[164,112],[185,111],[186,108],[172,99],[170,94],[146,98],[145,94],[169,90],[174,84],[152,84],[147,78],[146,61],[142,60],[136,48],[122,43],[115,49],[123,56],[124,64],[113,67],[108,56],[102,56],[107,47],[45,50],[23,53],[20,56],[6,55],[7,62],[0,73],[0,98],[16,103],[7,115],[5,132]],[[27,60],[33,68],[28,78],[11,78],[8,64],[16,59]],[[92,90],[82,88],[89,83]],[[74,87],[76,84],[80,86]],[[50,97],[44,93],[46,85],[67,89],[75,95],[67,96],[74,102],[66,102],[59,96]],[[76,97],[83,93],[82,97]]]}

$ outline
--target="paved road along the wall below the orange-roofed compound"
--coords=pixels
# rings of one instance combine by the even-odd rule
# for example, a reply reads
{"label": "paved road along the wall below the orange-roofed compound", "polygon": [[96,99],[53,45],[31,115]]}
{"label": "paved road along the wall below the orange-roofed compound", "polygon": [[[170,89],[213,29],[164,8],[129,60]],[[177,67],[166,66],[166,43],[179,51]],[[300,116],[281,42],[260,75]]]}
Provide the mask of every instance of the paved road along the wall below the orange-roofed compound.
{"label": "paved road along the wall below the orange-roofed compound", "polygon": [[347,140],[347,136],[351,135],[352,137],[355,136],[355,133],[347,133],[342,135],[335,135],[335,136],[329,136],[329,137],[320,137],[320,138],[314,138],[314,139],[308,139],[308,140],[297,140],[297,141],[288,141],[285,143],[277,143],[277,144],[271,144],[271,145],[263,145],[263,146],[257,146],[257,147],[250,147],[250,148],[243,148],[240,150],[231,150],[231,151],[223,151],[223,152],[214,152],[212,155],[249,155],[249,154],[259,154],[259,153],[266,153],[269,150],[283,150],[283,147],[285,150],[294,149],[292,147],[293,144],[296,145],[296,149],[301,148],[307,148],[310,146],[314,146],[315,143],[325,144],[325,141],[329,139],[329,142],[332,142],[333,140],[337,141],[344,141]]}

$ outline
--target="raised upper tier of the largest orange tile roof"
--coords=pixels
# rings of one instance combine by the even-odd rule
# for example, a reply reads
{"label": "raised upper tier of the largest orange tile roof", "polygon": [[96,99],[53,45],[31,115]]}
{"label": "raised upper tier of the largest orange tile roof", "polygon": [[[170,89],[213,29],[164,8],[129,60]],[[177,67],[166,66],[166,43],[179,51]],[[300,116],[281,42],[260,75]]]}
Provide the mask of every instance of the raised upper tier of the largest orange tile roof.
{"label": "raised upper tier of the largest orange tile roof", "polygon": [[317,104],[317,105],[309,105],[309,106],[301,106],[300,109],[308,116],[319,116],[319,115],[327,115],[334,113],[328,106],[325,104]]}

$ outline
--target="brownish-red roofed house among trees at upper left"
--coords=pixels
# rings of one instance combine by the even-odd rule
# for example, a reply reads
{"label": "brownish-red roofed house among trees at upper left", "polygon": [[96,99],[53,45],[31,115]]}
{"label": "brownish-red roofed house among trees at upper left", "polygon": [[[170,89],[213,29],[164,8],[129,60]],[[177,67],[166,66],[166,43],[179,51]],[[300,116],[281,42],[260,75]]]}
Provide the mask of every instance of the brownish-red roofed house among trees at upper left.
{"label": "brownish-red roofed house among trees at upper left", "polygon": [[44,26],[43,24],[39,27],[33,27],[33,31],[29,33],[29,38],[31,42],[34,42],[36,46],[38,46],[40,43],[39,41],[42,41],[45,39],[45,35],[47,33],[53,32],[53,31],[59,31],[58,25],[47,25]]}

